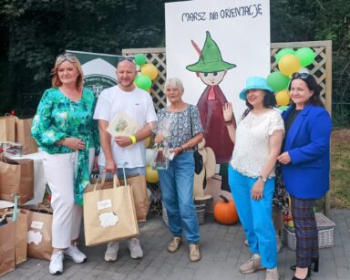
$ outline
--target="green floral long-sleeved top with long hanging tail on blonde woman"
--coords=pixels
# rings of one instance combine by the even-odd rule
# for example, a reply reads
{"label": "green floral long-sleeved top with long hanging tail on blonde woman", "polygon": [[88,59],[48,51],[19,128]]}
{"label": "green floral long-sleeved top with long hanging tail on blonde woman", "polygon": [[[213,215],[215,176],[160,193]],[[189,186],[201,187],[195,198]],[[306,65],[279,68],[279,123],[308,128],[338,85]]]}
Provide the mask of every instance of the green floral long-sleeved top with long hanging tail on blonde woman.
{"label": "green floral long-sleeved top with long hanging tail on blonde woman", "polygon": [[98,148],[99,144],[97,122],[92,119],[95,105],[94,93],[88,88],[83,88],[77,102],[68,99],[58,88],[49,88],[44,92],[33,119],[32,136],[47,153],[75,151],[67,146],[57,146],[58,140],[74,137],[85,142],[85,149],[78,150],[77,154],[74,183],[77,204],[83,204],[83,192],[89,183],[88,150]]}

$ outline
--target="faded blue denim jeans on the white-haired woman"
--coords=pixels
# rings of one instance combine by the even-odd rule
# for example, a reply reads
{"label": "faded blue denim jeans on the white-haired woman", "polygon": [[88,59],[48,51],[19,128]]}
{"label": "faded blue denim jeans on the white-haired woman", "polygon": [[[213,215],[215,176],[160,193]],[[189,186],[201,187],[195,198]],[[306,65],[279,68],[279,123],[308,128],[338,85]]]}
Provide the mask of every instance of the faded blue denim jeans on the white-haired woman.
{"label": "faded blue denim jeans on the white-haired woman", "polygon": [[193,203],[193,152],[180,153],[169,162],[167,170],[160,170],[158,173],[170,232],[181,237],[183,229],[189,244],[198,243],[200,233]]}

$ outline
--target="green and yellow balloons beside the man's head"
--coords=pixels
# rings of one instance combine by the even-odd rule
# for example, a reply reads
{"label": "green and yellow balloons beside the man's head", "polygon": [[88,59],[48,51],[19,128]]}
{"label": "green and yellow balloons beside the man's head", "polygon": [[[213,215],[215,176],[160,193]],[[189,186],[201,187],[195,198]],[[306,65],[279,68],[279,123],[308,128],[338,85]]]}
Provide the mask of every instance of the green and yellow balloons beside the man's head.
{"label": "green and yellow balloons beside the man's head", "polygon": [[152,80],[158,77],[158,69],[151,63],[146,63],[146,56],[138,54],[135,56],[135,63],[139,66],[139,75],[135,78],[135,84],[143,90],[150,90]]}

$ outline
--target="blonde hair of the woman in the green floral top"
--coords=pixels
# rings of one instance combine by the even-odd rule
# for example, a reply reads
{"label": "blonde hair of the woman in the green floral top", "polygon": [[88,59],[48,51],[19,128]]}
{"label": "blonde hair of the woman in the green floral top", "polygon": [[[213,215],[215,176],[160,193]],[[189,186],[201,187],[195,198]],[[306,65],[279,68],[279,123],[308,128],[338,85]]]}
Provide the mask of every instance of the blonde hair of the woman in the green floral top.
{"label": "blonde hair of the woman in the green floral top", "polygon": [[55,67],[52,69],[52,79],[51,79],[51,85],[53,88],[59,88],[62,86],[62,82],[58,78],[58,67],[64,63],[65,61],[69,61],[71,64],[73,64],[75,67],[77,67],[77,72],[79,75],[77,76],[77,88],[83,88],[84,86],[84,74],[83,69],[80,65],[79,60],[77,57],[73,56],[70,53],[65,53],[63,55],[60,55],[56,58]]}

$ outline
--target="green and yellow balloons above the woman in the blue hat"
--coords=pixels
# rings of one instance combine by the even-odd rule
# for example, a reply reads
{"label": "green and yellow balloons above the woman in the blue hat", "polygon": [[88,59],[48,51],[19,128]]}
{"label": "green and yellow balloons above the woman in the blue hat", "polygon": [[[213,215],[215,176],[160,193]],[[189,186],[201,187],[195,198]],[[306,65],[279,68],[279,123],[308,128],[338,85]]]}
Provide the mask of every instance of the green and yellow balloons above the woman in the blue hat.
{"label": "green and yellow balloons above the woman in the blue hat", "polygon": [[295,72],[308,73],[305,68],[313,63],[314,51],[310,47],[302,47],[296,51],[293,48],[283,48],[276,55],[280,71],[270,73],[267,84],[276,92],[278,109],[288,109],[290,103],[288,86]]}

